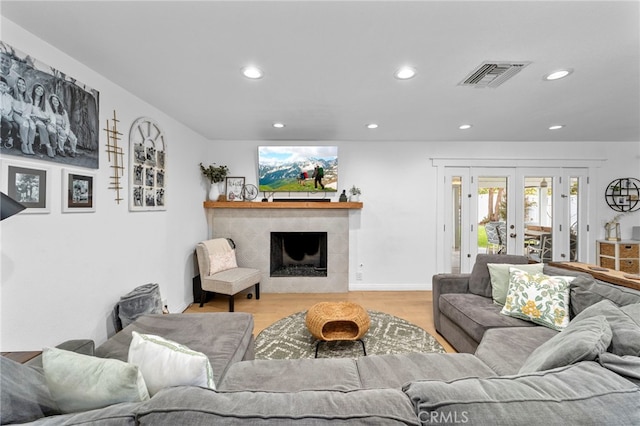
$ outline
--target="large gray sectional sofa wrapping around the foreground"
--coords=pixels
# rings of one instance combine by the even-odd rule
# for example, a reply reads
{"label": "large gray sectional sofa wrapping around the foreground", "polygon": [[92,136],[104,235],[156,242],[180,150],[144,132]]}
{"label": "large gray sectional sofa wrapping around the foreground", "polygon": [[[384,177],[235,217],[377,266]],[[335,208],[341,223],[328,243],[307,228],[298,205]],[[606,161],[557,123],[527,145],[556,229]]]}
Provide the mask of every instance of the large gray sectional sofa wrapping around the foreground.
{"label": "large gray sectional sofa wrapping around the foreground", "polygon": [[490,294],[470,291],[488,279],[486,263],[499,261],[519,260],[479,256],[472,274],[433,279],[438,331],[473,353],[254,360],[248,314],[145,316],[95,355],[126,360],[134,331],[162,335],[206,354],[215,390],[167,387],[143,402],[60,414],[37,361],[2,358],[2,423],[640,424],[640,353],[624,354],[640,352],[640,292],[582,277],[572,283],[571,328],[503,323]]}

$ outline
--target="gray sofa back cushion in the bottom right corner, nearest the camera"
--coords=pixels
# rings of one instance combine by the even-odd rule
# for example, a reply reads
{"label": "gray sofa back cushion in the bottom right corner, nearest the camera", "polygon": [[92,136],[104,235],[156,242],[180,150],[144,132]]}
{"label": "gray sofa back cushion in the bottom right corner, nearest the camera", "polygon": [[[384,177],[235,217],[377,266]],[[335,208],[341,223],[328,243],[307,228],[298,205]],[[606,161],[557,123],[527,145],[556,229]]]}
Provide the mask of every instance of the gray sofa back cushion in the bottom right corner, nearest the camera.
{"label": "gray sofa back cushion in the bottom right corner, nearest the camera", "polygon": [[595,362],[517,376],[418,381],[404,391],[422,424],[457,418],[479,425],[634,425],[640,401],[638,386]]}

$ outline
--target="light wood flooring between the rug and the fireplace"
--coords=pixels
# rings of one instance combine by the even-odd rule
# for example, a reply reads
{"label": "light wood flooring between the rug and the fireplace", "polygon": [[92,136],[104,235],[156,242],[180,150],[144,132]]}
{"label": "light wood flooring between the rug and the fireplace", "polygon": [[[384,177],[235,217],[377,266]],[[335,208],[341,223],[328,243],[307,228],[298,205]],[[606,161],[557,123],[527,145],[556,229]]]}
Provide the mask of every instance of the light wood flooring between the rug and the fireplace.
{"label": "light wood flooring between the rug and the fireplace", "polygon": [[[395,315],[422,327],[434,336],[447,352],[455,349],[438,333],[433,324],[431,291],[351,291],[348,293],[262,293],[260,299],[247,299],[239,294],[235,298],[235,311],[253,314],[254,335],[286,316],[306,311],[318,302],[349,301],[365,309]],[[216,296],[200,308],[191,304],[184,312],[227,312],[229,299]]]}

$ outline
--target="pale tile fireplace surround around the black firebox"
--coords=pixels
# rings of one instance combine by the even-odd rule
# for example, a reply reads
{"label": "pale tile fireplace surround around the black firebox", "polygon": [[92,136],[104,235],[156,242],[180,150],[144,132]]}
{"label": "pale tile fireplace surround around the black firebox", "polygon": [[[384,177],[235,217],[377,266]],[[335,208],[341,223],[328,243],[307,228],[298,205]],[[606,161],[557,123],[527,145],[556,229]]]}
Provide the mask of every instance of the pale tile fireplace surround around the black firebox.
{"label": "pale tile fireplace surround around the black firebox", "polygon": [[[221,204],[207,202],[205,207]],[[262,271],[261,291],[265,293],[346,293],[349,291],[349,209],[259,207],[264,208],[214,207],[206,210],[209,235],[213,238],[232,238],[237,245],[238,264]],[[327,276],[269,276],[271,232],[326,232]]]}

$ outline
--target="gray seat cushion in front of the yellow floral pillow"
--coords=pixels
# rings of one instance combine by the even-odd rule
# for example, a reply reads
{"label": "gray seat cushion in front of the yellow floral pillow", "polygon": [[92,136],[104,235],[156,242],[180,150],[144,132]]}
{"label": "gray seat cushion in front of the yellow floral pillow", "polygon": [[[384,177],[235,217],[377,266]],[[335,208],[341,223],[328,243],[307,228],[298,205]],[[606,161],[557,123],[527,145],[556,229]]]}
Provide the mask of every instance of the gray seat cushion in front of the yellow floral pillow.
{"label": "gray seat cushion in front of the yellow floral pillow", "polygon": [[490,297],[475,294],[446,293],[440,296],[440,312],[450,318],[476,342],[489,328],[534,327],[535,324],[518,318],[500,315],[502,306]]}

